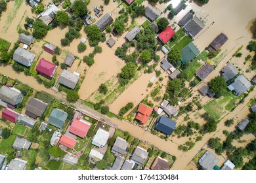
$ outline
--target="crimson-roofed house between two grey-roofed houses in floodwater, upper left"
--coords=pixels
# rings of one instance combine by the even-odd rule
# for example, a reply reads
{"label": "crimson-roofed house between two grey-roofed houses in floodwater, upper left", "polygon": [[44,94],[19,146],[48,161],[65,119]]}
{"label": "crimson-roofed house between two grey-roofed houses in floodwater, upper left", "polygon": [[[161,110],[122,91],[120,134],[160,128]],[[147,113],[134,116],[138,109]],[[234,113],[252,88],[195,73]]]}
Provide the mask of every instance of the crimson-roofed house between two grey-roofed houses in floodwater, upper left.
{"label": "crimson-roofed house between two grey-roofed houses in floodwater, upper left", "polygon": [[57,69],[57,65],[54,65],[53,63],[47,61],[46,59],[41,58],[36,70],[37,72],[41,73],[42,75],[53,77],[55,71]]}

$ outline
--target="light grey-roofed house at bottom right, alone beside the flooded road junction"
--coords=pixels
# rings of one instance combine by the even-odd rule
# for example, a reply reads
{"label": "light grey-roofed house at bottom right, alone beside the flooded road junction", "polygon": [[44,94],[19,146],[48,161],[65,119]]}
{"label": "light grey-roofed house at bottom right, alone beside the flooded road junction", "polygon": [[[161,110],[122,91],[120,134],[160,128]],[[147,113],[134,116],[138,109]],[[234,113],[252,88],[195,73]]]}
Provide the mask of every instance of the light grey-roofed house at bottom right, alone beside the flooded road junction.
{"label": "light grey-roofed house at bottom right, alone beside the flooded road junction", "polygon": [[212,170],[218,162],[219,159],[216,156],[214,156],[211,152],[206,151],[199,159],[198,164],[203,170]]}

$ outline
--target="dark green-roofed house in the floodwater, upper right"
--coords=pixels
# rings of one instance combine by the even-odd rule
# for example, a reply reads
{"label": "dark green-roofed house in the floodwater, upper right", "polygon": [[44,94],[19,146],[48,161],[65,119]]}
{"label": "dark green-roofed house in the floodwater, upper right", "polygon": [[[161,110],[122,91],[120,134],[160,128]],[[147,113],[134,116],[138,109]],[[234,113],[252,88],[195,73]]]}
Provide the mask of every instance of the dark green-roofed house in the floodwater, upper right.
{"label": "dark green-roofed house in the floodwater, upper right", "polygon": [[186,61],[191,61],[192,59],[196,58],[198,54],[200,54],[200,51],[198,50],[198,48],[196,48],[193,42],[190,42],[181,50],[181,56],[182,56],[181,61],[182,63]]}

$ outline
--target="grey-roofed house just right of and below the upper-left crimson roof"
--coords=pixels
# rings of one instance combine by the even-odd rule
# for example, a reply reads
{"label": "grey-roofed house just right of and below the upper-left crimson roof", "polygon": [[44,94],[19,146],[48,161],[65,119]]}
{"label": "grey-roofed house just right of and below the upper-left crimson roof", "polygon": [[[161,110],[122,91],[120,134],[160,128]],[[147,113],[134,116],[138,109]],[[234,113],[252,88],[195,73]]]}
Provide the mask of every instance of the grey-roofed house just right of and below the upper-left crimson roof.
{"label": "grey-roofed house just right of and below the upper-left crimson roof", "polygon": [[63,70],[62,73],[60,73],[60,78],[58,78],[58,82],[60,84],[63,84],[64,86],[67,86],[68,88],[74,89],[77,85],[77,82],[79,81],[79,76],[75,75],[74,73],[71,73],[68,70]]}

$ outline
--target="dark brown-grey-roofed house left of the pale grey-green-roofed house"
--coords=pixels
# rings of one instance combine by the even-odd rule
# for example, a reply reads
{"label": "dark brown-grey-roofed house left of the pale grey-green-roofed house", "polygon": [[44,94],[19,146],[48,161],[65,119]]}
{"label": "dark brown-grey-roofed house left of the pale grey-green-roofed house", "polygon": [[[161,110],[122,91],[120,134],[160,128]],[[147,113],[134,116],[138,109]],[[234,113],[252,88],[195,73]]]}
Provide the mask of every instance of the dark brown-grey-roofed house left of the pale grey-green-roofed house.
{"label": "dark brown-grey-roofed house left of the pale grey-green-roofed house", "polygon": [[28,101],[26,105],[26,112],[28,116],[32,118],[37,118],[37,116],[41,117],[45,112],[48,104],[40,101],[39,99],[32,98]]}

